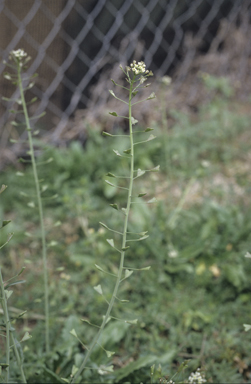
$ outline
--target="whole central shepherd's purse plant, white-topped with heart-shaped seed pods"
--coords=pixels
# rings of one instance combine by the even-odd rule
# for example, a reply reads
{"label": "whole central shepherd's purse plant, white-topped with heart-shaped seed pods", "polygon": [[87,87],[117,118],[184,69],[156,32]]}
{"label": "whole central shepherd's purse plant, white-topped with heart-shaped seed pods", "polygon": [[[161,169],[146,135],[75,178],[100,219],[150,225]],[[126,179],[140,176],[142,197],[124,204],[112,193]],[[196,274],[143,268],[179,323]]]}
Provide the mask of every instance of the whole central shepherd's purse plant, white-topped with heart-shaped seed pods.
{"label": "whole central shepherd's purse plant, white-topped with heart-shaped seed pods", "polygon": [[[143,143],[149,142],[155,138],[154,135],[148,134],[148,132],[152,131],[151,128],[147,128],[145,130],[137,130],[134,128],[134,126],[137,124],[137,120],[132,116],[132,108],[137,105],[138,103],[142,103],[143,101],[151,100],[155,98],[155,94],[151,93],[146,99],[143,100],[138,100],[136,98],[136,95],[142,88],[148,87],[150,84],[145,84],[149,76],[152,76],[152,72],[149,70],[146,70],[146,65],[143,61],[136,63],[136,61],[133,61],[133,63],[130,66],[127,66],[125,68],[120,65],[120,69],[124,72],[125,74],[125,79],[128,83],[128,86],[122,86],[120,84],[117,84],[114,80],[112,80],[113,84],[115,86],[123,88],[128,94],[128,101],[122,100],[121,98],[117,97],[113,90],[110,90],[110,94],[117,99],[118,101],[125,103],[128,108],[128,116],[124,117],[125,119],[128,120],[129,124],[129,134],[127,135],[119,135],[121,137],[121,140],[127,140],[128,141],[128,149],[124,150],[123,153],[120,153],[117,149],[113,150],[113,156],[117,156],[118,159],[121,158],[126,158],[128,160],[128,174],[126,175],[115,175],[112,172],[107,173],[107,177],[110,179],[118,179],[118,183],[120,182],[119,185],[115,185],[114,183],[110,182],[109,180],[105,180],[108,185],[114,188],[121,188],[124,191],[126,191],[127,198],[126,198],[126,204],[124,207],[120,208],[119,205],[114,202],[111,204],[111,209],[115,209],[118,211],[118,213],[121,213],[124,217],[123,219],[123,224],[121,231],[119,232],[117,229],[114,230],[110,228],[106,223],[100,222],[100,225],[104,227],[107,232],[109,233],[115,233],[116,236],[120,237],[120,241],[116,241],[117,238],[112,238],[109,237],[107,239],[108,244],[111,246],[111,248],[117,252],[120,255],[120,261],[119,261],[119,266],[118,266],[118,273],[117,275],[114,275],[115,278],[115,285],[113,289],[113,293],[111,296],[110,301],[108,302],[105,297],[104,300],[107,302],[107,310],[106,313],[102,317],[102,322],[100,325],[98,325],[98,331],[96,335],[94,336],[92,343],[90,346],[86,347],[86,353],[84,360],[82,364],[80,365],[79,368],[73,367],[72,369],[72,375],[70,382],[75,383],[80,380],[80,375],[82,374],[83,370],[87,368],[86,364],[89,360],[89,357],[91,356],[93,349],[95,346],[99,345],[101,348],[102,347],[102,332],[105,328],[105,325],[107,324],[108,321],[112,321],[114,318],[111,314],[112,308],[118,299],[118,290],[120,284],[123,282],[123,280],[129,278],[132,273],[135,271],[135,269],[126,267],[125,265],[125,257],[126,254],[130,252],[130,244],[132,241],[142,241],[148,237],[147,232],[137,232],[137,233],[132,233],[128,231],[128,221],[129,221],[129,216],[130,216],[130,210],[132,204],[137,204],[137,203],[142,203],[142,199],[146,195],[145,192],[141,193],[136,193],[134,189],[134,180],[143,176],[147,172],[157,172],[159,170],[159,166],[153,168],[153,169],[148,169],[148,170],[142,170],[142,169],[135,169],[134,163],[135,163],[135,150],[138,145],[141,145]],[[135,101],[134,101],[135,100]],[[114,117],[123,117],[119,116],[116,112],[110,112],[110,114]],[[108,132],[103,132],[104,136],[109,137],[111,140],[113,137],[118,136],[114,135]],[[143,135],[143,138],[141,138]],[[146,137],[147,135],[147,137]],[[124,184],[124,181],[127,180],[127,183]],[[123,184],[122,182],[123,181]],[[122,186],[122,185],[123,186]],[[156,199],[152,198],[148,201],[147,203],[153,203],[155,202]],[[102,273],[108,273],[111,274],[109,271],[105,271],[103,268],[100,266],[96,265],[96,268],[101,271]],[[150,267],[145,267],[140,270],[148,270]],[[103,289],[101,285],[97,285],[94,287],[95,291],[104,296],[103,294]],[[118,319],[116,319],[118,320]],[[125,321],[124,319],[121,321]],[[134,320],[126,320],[126,322],[135,324],[137,322],[137,319]],[[73,329],[71,331],[72,335],[75,337],[78,337],[75,330]],[[108,357],[111,357],[114,352],[111,351],[105,351]],[[111,372],[113,369],[112,365],[107,365],[106,367],[102,366],[103,371]],[[69,380],[67,380],[69,381]]]}

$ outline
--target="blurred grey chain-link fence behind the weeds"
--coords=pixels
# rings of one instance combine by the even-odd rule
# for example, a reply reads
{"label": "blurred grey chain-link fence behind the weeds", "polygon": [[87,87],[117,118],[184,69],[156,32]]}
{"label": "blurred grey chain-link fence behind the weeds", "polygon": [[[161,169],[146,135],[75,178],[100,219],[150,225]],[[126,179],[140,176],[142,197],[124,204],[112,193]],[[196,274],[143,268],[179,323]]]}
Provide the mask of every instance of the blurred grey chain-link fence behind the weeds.
{"label": "blurred grey chain-link fence behind the weeds", "polygon": [[[134,58],[143,59],[158,76],[175,76],[177,86],[195,69],[217,67],[217,74],[224,75],[232,65],[234,80],[245,93],[250,86],[250,9],[250,0],[1,0],[0,55],[7,60],[12,49],[23,48],[32,57],[28,72],[37,72],[39,80],[31,91],[38,97],[31,113],[47,111],[41,124],[53,127],[55,138],[77,109],[93,108],[90,89],[103,74]],[[221,55],[226,46],[232,56]],[[3,78],[2,60],[1,93],[14,97]],[[196,89],[187,92],[189,99]],[[99,87],[95,103],[102,102],[106,99]],[[11,107],[2,102],[2,148],[9,138]]]}

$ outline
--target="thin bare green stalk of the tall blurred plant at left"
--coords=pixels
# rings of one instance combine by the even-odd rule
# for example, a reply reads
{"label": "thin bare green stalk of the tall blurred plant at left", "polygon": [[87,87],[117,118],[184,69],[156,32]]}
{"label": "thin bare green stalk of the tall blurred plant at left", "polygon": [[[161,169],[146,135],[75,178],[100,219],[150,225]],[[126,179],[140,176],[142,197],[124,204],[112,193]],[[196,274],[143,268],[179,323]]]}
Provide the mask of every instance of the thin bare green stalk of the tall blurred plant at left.
{"label": "thin bare green stalk of the tall blurred plant at left", "polygon": [[44,228],[44,218],[43,218],[43,206],[41,199],[41,191],[38,180],[37,165],[34,154],[33,140],[31,134],[30,119],[27,111],[27,106],[24,97],[24,90],[22,86],[22,77],[21,77],[21,67],[18,65],[18,84],[20,90],[20,96],[22,101],[22,107],[24,111],[25,124],[28,132],[28,140],[30,146],[30,156],[32,162],[33,175],[36,185],[36,194],[38,202],[38,211],[40,218],[40,228],[41,228],[41,240],[42,240],[42,255],[43,255],[43,277],[44,277],[44,304],[45,304],[45,348],[46,352],[50,351],[50,342],[49,342],[49,292],[48,292],[48,272],[47,272],[47,252],[46,252],[46,240],[45,240],[45,228]]}

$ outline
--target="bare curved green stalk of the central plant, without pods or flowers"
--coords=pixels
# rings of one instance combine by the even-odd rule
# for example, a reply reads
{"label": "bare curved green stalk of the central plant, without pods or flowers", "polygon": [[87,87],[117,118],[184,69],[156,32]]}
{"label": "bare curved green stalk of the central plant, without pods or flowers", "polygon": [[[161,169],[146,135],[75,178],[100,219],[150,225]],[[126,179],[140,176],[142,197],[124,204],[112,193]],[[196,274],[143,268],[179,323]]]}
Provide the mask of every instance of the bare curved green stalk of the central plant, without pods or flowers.
{"label": "bare curved green stalk of the central plant, without pods or flowers", "polygon": [[[134,148],[133,148],[133,132],[132,132],[132,103],[131,103],[131,100],[132,100],[132,88],[133,88],[133,81],[130,84],[129,103],[128,103],[130,146],[131,146],[130,182],[129,182],[129,188],[128,188],[127,206],[126,206],[126,214],[125,214],[124,229],[123,229],[123,236],[122,236],[122,248],[124,248],[126,246],[128,218],[129,218],[129,212],[130,212],[130,207],[131,207],[132,189],[133,189]],[[102,332],[103,332],[103,330],[105,328],[105,325],[106,325],[106,323],[107,323],[107,321],[109,319],[111,310],[113,308],[115,299],[117,297],[119,285],[121,283],[121,277],[122,277],[122,272],[123,272],[123,268],[124,268],[124,258],[125,258],[125,252],[122,251],[121,252],[121,256],[120,256],[120,264],[119,264],[119,270],[118,270],[118,275],[117,275],[115,287],[114,287],[112,298],[111,298],[111,301],[110,301],[110,303],[108,305],[106,314],[105,314],[105,316],[103,318],[103,321],[102,321],[102,324],[101,324],[101,326],[99,328],[99,331],[95,335],[95,337],[94,337],[94,339],[93,339],[93,341],[92,341],[92,343],[91,343],[91,345],[90,345],[90,347],[89,347],[89,349],[88,349],[88,351],[87,351],[87,353],[85,355],[85,358],[84,358],[81,366],[79,367],[79,370],[77,371],[76,375],[71,380],[71,383],[76,383],[78,377],[81,375],[81,373],[85,369],[86,363],[87,363],[89,357],[91,356],[91,354],[93,352],[93,349],[97,345],[98,340],[99,340],[99,338],[100,338],[100,336],[101,336],[101,334],[102,334]]]}

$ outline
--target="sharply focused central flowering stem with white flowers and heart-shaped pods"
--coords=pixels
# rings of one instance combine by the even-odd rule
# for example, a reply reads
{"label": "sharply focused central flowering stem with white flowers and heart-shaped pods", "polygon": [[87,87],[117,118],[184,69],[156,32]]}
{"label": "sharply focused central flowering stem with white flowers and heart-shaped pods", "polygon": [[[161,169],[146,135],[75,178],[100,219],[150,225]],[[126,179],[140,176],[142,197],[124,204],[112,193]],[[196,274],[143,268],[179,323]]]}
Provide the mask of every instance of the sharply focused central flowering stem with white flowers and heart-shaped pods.
{"label": "sharply focused central flowering stem with white flowers and heart-shaped pods", "polygon": [[[124,72],[124,74],[126,75],[126,81],[129,83],[129,88],[127,87],[123,87],[119,84],[116,84],[113,80],[113,84],[114,85],[118,85],[120,86],[121,88],[124,88],[126,89],[128,92],[129,92],[129,98],[128,98],[128,102],[127,101],[124,101],[122,99],[119,99],[118,97],[116,97],[116,95],[114,94],[113,91],[110,91],[111,95],[113,97],[115,97],[116,99],[118,99],[119,101],[125,103],[128,105],[128,117],[127,119],[129,120],[129,135],[126,135],[127,137],[129,137],[130,139],[130,148],[125,150],[124,151],[124,155],[121,155],[119,154],[118,151],[115,151],[115,154],[119,157],[127,157],[129,159],[129,162],[130,162],[130,173],[129,173],[129,185],[128,185],[128,188],[123,188],[123,189],[126,189],[128,192],[127,192],[127,203],[126,203],[126,208],[122,209],[124,215],[125,215],[125,218],[124,218],[124,225],[123,225],[123,232],[121,232],[121,236],[122,236],[122,241],[121,241],[121,245],[120,245],[120,249],[116,248],[115,245],[114,245],[114,240],[113,239],[107,239],[107,242],[116,250],[120,253],[120,263],[119,263],[119,269],[118,269],[118,274],[116,276],[116,282],[115,282],[115,286],[114,286],[114,290],[113,290],[113,293],[112,293],[112,297],[111,297],[111,300],[110,302],[108,303],[108,308],[107,308],[107,311],[106,311],[106,314],[103,316],[103,320],[102,320],[102,323],[101,325],[99,326],[99,330],[98,332],[96,333],[91,345],[88,347],[87,349],[87,352],[86,352],[86,355],[85,355],[85,358],[81,364],[81,366],[79,367],[79,369],[77,370],[77,372],[74,372],[72,374],[72,379],[71,379],[71,383],[75,383],[75,382],[78,382],[79,381],[79,376],[81,375],[81,373],[83,372],[83,370],[86,368],[86,364],[93,352],[93,349],[95,348],[95,346],[97,344],[99,344],[99,340],[100,340],[100,337],[103,333],[103,330],[105,328],[105,325],[107,324],[107,322],[110,320],[110,314],[111,314],[111,311],[112,311],[112,308],[114,306],[114,302],[115,302],[115,299],[117,299],[118,297],[118,290],[119,290],[119,286],[120,286],[120,283],[127,277],[129,277],[131,274],[132,274],[132,270],[128,270],[126,269],[125,270],[125,267],[124,267],[124,260],[125,260],[125,252],[127,251],[127,249],[129,248],[128,246],[128,220],[129,220],[129,214],[130,214],[130,208],[131,208],[131,203],[132,203],[132,192],[133,192],[133,183],[134,183],[134,179],[143,175],[145,173],[145,171],[141,171],[141,170],[138,170],[137,174],[135,174],[135,169],[134,169],[134,160],[135,160],[135,156],[134,156],[134,146],[135,144],[139,144],[139,143],[134,143],[134,132],[133,132],[133,125],[137,122],[133,116],[132,116],[132,106],[139,103],[139,102],[142,102],[142,101],[145,101],[145,100],[150,100],[150,99],[153,99],[155,97],[155,94],[152,93],[147,99],[145,100],[141,100],[141,101],[137,101],[135,103],[133,103],[133,98],[136,96],[136,94],[138,93],[138,90],[140,88],[144,88],[144,87],[147,87],[149,84],[147,84],[146,86],[144,86],[144,82],[147,80],[147,77],[148,76],[152,76],[152,72],[149,72],[148,70],[145,69],[145,64],[143,62],[139,62],[139,63],[136,63],[136,61],[134,61],[130,67],[126,67],[125,69],[120,66],[121,70]],[[112,116],[118,116],[116,112],[110,112],[110,114]],[[151,129],[149,129],[151,130]],[[146,130],[148,131],[148,130]],[[144,132],[144,131],[142,131]],[[111,135],[109,133],[106,133],[106,132],[103,132],[103,134],[105,136],[116,136],[116,135]],[[152,138],[154,138],[153,135],[151,135],[152,137],[150,138],[150,140]],[[149,138],[145,141],[149,141]],[[143,141],[144,142],[144,141]],[[155,170],[157,170],[158,167],[156,167]],[[141,172],[139,172],[141,171]],[[111,175],[110,173],[107,174],[108,176]],[[112,177],[116,177],[115,175],[113,175]],[[119,177],[118,177],[119,178]],[[106,181],[108,184],[112,185],[110,182]],[[115,208],[116,210],[119,210],[117,204],[111,204],[111,206],[113,208]],[[106,229],[110,230],[110,231],[113,231],[111,228],[108,228],[104,223],[100,223],[103,227],[105,227]],[[113,231],[113,232],[116,232],[116,231]],[[146,233],[147,232],[141,232],[141,233],[138,233],[136,235],[141,235],[141,237],[139,239],[134,239],[133,241],[137,241],[137,240],[143,240],[144,238],[148,237],[146,236]],[[142,269],[149,269],[150,267],[147,267],[147,268],[142,268]],[[125,272],[125,277],[123,277],[123,272]],[[99,294],[103,294],[102,292],[102,288],[101,286],[97,286],[94,288]],[[128,321],[130,322],[130,321]],[[133,322],[133,321],[132,321]],[[113,352],[109,352],[109,351],[106,351],[107,355],[108,356],[111,356],[113,354]],[[108,368],[109,370],[109,368]]]}

